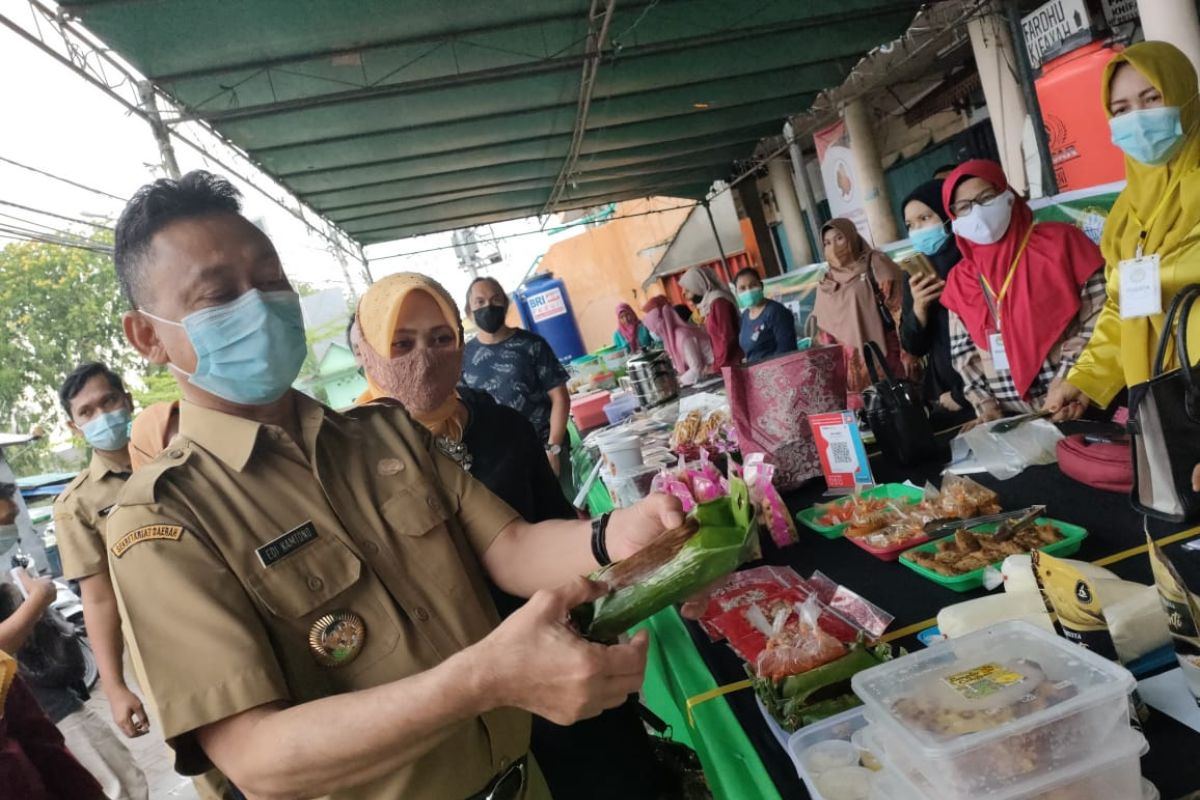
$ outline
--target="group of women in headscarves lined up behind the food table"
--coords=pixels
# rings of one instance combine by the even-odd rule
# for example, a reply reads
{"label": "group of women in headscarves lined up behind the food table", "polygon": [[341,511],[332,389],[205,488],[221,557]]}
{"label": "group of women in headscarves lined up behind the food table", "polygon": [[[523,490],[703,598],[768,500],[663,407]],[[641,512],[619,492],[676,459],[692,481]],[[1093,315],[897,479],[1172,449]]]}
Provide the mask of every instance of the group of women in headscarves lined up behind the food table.
{"label": "group of women in headscarves lined up behind the food table", "polygon": [[[864,361],[872,342],[894,375],[923,386],[932,414],[965,426],[1043,409],[1056,421],[1103,414],[1151,377],[1162,312],[1200,277],[1187,267],[1200,248],[1196,73],[1171,44],[1134,44],[1108,65],[1103,102],[1127,186],[1099,246],[1076,225],[1036,221],[986,160],[940,167],[905,198],[920,254],[905,265],[850,219],[824,224],[828,269],[812,317],[818,343],[844,350],[850,408],[862,408],[872,383]],[[1129,285],[1135,273],[1150,283]],[[1122,281],[1138,300],[1122,305]],[[646,305],[644,321],[683,383],[797,348],[793,315],[766,300],[757,271],[734,277],[736,295],[708,267],[689,270],[679,285],[702,325],[665,321],[660,297]],[[618,313],[636,321],[628,306]],[[1200,325],[1187,335],[1200,347]],[[1175,359],[1169,351],[1166,369]]]}

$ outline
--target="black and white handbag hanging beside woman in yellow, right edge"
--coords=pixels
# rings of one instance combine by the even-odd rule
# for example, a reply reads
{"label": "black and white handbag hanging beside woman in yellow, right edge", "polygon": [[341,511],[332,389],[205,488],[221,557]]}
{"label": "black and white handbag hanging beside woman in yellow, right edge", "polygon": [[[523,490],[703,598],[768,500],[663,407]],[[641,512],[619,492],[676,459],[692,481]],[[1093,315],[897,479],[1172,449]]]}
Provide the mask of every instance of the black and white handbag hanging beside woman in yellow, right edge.
{"label": "black and white handbag hanging beside woman in yellow, right edge", "polygon": [[[1183,287],[1166,312],[1150,380],[1129,387],[1133,438],[1133,507],[1170,522],[1200,517],[1192,470],[1200,464],[1200,377],[1188,354],[1188,320],[1200,284]],[[1181,367],[1163,372],[1172,343]]]}

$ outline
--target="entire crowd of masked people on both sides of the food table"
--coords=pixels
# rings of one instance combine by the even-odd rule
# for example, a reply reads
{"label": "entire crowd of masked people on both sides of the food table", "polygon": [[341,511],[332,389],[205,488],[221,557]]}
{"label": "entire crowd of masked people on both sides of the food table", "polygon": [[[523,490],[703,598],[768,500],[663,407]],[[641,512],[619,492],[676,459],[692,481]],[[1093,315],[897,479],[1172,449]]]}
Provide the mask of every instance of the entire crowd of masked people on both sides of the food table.
{"label": "entire crowd of masked people on both sides of the food table", "polygon": [[[1146,380],[1163,308],[1198,279],[1196,95],[1169,44],[1109,65],[1128,185],[1099,247],[1034,221],[1000,166],[978,160],[905,199],[912,264],[848,219],[826,224],[816,338],[842,349],[851,407],[871,383],[872,342],[966,425],[1075,419]],[[462,308],[425,276],[376,282],[347,331],[368,389],[340,413],[292,389],[299,299],[227,181],[194,172],[143,187],[114,261],[126,337],[175,374],[182,402],[134,417],[103,365],[66,377],[62,409],[92,459],[54,518],[125,735],[152,720],[178,769],[217,796],[662,796],[635,700],[644,634],[601,645],[564,620],[601,590],[578,576],[680,524],[680,509],[650,495],[580,518],[562,483],[568,374],[508,324],[498,282],[474,281]],[[618,306],[613,343],[661,347],[684,384],[797,349],[791,311],[757,271],[731,287],[695,267],[679,285],[690,307]],[[53,593],[22,587],[0,606],[0,651],[18,662]],[[56,680],[74,693],[54,696],[0,652],[0,746],[23,753],[20,796],[54,796],[59,782],[84,800],[144,798],[122,742],[78,741],[95,721],[79,717],[77,678]]]}

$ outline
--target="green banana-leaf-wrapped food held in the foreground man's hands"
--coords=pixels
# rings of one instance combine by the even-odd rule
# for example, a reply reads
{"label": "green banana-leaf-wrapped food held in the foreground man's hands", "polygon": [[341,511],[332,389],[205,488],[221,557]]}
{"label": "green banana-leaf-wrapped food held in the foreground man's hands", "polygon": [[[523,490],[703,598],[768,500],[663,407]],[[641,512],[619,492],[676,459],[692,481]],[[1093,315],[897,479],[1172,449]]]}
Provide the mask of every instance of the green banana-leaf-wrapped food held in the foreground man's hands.
{"label": "green banana-leaf-wrapped food held in the foreground man's hands", "polygon": [[746,485],[734,479],[728,497],[700,504],[679,528],[592,573],[610,590],[574,608],[571,619],[588,638],[611,642],[736,570],[757,543],[756,531]]}

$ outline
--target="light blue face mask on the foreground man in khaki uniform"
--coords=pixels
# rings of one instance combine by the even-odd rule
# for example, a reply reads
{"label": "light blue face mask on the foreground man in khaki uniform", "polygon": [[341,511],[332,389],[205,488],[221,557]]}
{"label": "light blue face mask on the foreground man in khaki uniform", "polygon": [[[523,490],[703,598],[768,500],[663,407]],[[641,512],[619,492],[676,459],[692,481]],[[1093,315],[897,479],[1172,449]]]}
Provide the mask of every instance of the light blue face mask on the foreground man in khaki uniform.
{"label": "light blue face mask on the foreground man in khaki uniform", "polygon": [[187,331],[196,369],[187,373],[172,365],[187,375],[187,383],[239,405],[265,405],[283,397],[308,353],[295,291],[251,289],[179,323],[142,313]]}

